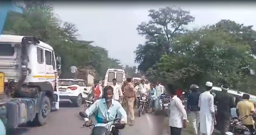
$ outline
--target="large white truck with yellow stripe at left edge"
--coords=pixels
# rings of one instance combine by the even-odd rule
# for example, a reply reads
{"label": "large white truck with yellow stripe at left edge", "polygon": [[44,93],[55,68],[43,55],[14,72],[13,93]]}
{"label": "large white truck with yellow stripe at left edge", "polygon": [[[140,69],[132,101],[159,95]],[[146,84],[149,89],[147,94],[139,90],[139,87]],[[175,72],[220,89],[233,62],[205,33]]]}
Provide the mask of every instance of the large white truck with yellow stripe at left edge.
{"label": "large white truck with yellow stripe at left edge", "polygon": [[6,128],[44,125],[58,110],[61,57],[33,36],[0,35],[0,119]]}

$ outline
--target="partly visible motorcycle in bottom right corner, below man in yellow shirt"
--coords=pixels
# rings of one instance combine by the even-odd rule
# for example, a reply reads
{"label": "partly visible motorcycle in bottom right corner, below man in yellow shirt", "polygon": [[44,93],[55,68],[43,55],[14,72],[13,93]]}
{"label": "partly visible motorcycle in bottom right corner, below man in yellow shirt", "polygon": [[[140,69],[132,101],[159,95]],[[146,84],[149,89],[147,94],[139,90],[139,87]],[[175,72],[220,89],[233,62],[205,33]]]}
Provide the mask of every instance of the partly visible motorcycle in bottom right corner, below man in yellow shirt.
{"label": "partly visible motorcycle in bottom right corner, below man in yellow shirt", "polygon": [[[241,119],[245,119],[252,114],[245,115]],[[255,133],[255,132],[254,132]],[[233,118],[230,120],[229,132],[226,132],[227,135],[251,135],[250,130],[242,124],[241,120]]]}

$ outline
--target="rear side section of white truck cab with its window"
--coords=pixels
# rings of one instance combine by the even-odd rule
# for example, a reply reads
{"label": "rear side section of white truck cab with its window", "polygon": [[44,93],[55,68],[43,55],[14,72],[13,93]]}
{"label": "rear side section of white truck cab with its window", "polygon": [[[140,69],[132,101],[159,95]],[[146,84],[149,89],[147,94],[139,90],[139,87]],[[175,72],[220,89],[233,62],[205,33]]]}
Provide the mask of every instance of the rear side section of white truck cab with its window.
{"label": "rear side section of white truck cab with its window", "polygon": [[39,78],[41,81],[45,79],[45,52],[41,46],[37,48],[37,63],[36,63],[36,71],[33,77]]}

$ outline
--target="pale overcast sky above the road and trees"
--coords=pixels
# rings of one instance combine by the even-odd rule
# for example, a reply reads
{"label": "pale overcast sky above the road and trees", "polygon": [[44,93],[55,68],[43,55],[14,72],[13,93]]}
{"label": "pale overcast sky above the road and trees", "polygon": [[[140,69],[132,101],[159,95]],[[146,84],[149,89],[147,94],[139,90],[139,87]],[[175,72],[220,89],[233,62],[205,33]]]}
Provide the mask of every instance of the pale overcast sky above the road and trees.
{"label": "pale overcast sky above the road and trees", "polygon": [[138,44],[145,39],[138,35],[137,26],[150,20],[148,10],[177,5],[189,10],[195,21],[187,28],[214,24],[221,19],[230,19],[256,28],[256,3],[54,3],[55,13],[63,21],[71,22],[79,30],[79,40],[95,41],[92,45],[104,47],[111,58],[117,58],[121,64],[135,66],[135,54]]}

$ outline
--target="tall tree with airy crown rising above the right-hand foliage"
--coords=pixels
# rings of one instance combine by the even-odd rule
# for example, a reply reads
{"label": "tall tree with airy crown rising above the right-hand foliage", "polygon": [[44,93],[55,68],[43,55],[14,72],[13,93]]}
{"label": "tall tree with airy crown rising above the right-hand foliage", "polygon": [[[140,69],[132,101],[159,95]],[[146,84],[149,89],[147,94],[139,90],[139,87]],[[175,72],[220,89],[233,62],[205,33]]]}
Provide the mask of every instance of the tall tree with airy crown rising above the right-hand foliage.
{"label": "tall tree with airy crown rising above the right-hand foliage", "polygon": [[146,72],[163,54],[168,54],[172,47],[173,38],[183,34],[183,26],[194,21],[189,11],[177,7],[165,7],[159,10],[149,10],[151,20],[142,22],[137,30],[139,35],[145,36],[145,44],[137,47],[135,62],[138,69]]}

